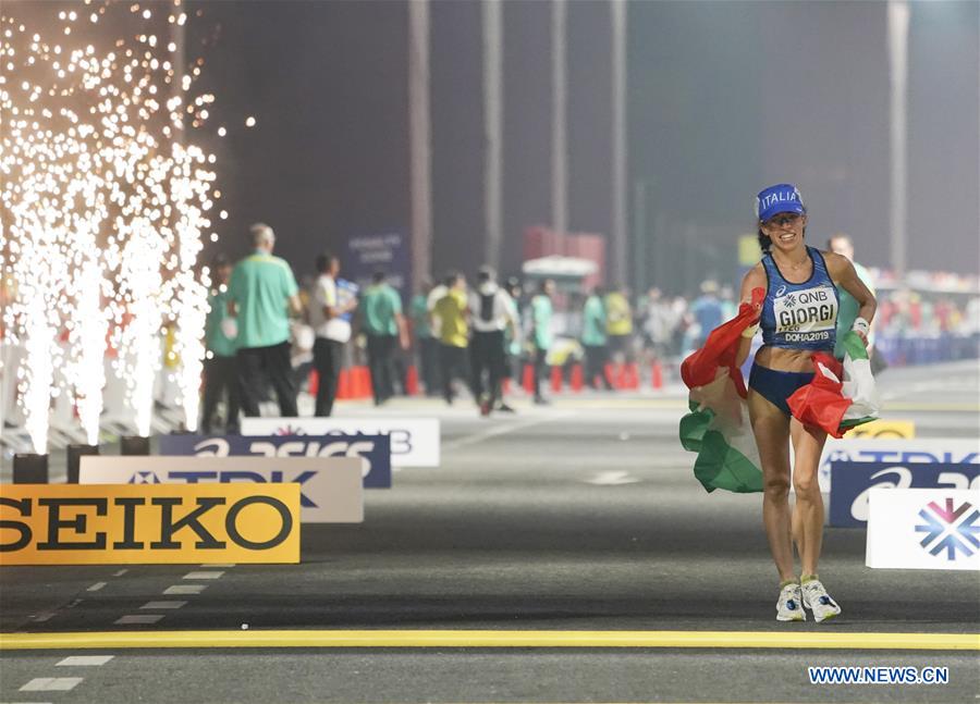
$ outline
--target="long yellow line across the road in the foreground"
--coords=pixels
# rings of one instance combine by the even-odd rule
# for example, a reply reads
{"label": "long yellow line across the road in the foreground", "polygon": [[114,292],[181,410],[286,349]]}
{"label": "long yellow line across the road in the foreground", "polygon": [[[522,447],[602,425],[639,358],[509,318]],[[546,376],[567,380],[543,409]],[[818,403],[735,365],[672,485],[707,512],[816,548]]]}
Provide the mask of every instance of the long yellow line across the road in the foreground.
{"label": "long yellow line across the road in the foreground", "polygon": [[0,634],[0,651],[110,647],[779,647],[980,651],[980,633],[243,630]]}

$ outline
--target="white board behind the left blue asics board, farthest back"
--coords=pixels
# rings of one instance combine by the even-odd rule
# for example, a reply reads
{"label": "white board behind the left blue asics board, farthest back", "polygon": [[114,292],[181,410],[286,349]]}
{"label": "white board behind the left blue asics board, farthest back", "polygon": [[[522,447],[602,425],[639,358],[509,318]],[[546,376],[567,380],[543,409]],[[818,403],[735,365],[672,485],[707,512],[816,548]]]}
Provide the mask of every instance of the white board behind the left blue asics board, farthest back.
{"label": "white board behind the left blue asics board, farthest back", "polygon": [[388,435],[393,467],[439,467],[437,418],[243,418],[243,435]]}

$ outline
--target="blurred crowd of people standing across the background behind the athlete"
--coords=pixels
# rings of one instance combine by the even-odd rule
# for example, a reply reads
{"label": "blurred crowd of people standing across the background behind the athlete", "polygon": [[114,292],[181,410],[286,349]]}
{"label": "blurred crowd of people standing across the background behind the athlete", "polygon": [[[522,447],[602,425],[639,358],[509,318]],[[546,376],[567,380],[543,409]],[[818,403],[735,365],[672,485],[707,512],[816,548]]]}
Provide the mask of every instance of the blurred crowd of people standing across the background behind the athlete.
{"label": "blurred crowd of people standing across the background behind the athlete", "polygon": [[[505,391],[524,387],[534,403],[547,404],[554,370],[614,391],[623,386],[616,379],[624,369],[634,375],[674,369],[737,311],[733,287],[713,280],[695,297],[657,287],[635,297],[625,286],[584,291],[583,280],[541,274],[499,282],[490,267],[469,277],[453,271],[422,282],[403,310],[402,295],[382,271],[362,288],[343,277],[338,256],[323,252],[315,277],[301,287],[290,265],[272,256],[272,230],[258,224],[252,235],[252,256],[235,267],[218,258],[211,267],[205,432],[221,399],[229,432],[237,429],[240,410],[258,415],[269,392],[282,416],[297,415],[296,396],[310,372],[314,412],[329,416],[342,371],[360,366],[379,406],[395,395],[425,393],[450,405],[462,395],[482,415],[513,412]],[[878,353],[878,368],[940,354],[923,351],[922,337],[953,336],[976,347],[978,319],[976,296],[880,292],[875,347],[885,354]]]}

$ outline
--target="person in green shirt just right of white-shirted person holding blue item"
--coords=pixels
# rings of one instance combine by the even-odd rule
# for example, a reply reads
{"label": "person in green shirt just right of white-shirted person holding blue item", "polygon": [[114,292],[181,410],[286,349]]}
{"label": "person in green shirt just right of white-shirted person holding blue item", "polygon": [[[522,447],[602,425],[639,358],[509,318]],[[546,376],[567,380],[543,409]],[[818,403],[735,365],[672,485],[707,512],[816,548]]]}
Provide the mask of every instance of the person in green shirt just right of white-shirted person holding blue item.
{"label": "person in green shirt just right of white-shirted person holding blue item", "polygon": [[395,344],[408,349],[408,331],[402,314],[402,297],[387,281],[383,271],[376,271],[371,285],[360,298],[362,326],[367,336],[368,371],[375,405],[380,406],[394,396]]}

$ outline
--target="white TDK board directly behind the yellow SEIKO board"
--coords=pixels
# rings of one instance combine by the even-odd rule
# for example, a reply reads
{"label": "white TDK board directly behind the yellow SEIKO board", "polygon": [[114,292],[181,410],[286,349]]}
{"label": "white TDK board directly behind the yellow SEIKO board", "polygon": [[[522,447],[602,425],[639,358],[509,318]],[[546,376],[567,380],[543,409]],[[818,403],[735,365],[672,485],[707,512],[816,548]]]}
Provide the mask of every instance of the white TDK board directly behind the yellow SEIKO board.
{"label": "white TDK board directly behind the yellow SEIKO board", "polygon": [[83,458],[79,484],[298,484],[304,523],[364,521],[360,457]]}

